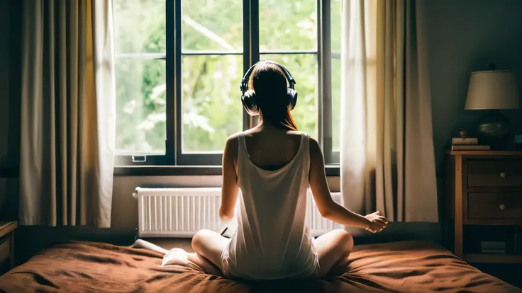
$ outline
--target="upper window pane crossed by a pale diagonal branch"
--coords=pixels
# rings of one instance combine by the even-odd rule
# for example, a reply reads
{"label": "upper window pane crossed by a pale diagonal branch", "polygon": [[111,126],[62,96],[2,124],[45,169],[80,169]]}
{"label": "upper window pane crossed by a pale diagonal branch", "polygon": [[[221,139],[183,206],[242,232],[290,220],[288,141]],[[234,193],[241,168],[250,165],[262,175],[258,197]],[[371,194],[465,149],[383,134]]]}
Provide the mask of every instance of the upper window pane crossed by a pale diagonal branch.
{"label": "upper window pane crossed by a pale diagonal branch", "polygon": [[242,2],[182,0],[183,52],[243,52]]}

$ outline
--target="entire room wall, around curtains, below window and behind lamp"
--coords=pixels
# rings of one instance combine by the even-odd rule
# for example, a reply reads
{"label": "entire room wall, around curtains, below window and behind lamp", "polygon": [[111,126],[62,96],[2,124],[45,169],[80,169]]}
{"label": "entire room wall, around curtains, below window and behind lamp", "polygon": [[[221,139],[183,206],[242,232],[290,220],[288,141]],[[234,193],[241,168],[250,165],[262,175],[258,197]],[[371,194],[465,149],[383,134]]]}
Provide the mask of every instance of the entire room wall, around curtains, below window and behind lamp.
{"label": "entire room wall, around curtains, below window and behind lamp", "polygon": [[[18,158],[19,64],[20,58],[19,1],[0,1],[0,168],[16,167]],[[497,68],[513,69],[522,79],[522,1],[520,0],[423,0],[421,12],[426,22],[429,48],[431,89],[433,98],[433,140],[438,170],[439,195],[443,195],[444,151],[453,132],[470,125],[480,113],[462,110],[470,72],[487,69],[490,62]],[[11,30],[11,32],[9,32]],[[9,52],[9,54],[8,54]],[[8,66],[4,66],[9,64]],[[15,64],[15,65],[13,65]],[[9,71],[7,69],[9,68]],[[522,84],[522,82],[521,82]],[[9,98],[6,93],[9,92]],[[9,110],[6,110],[9,109]],[[520,117],[516,117],[518,116]],[[509,113],[513,125],[522,128],[520,111]],[[2,141],[5,141],[2,139]],[[339,178],[330,178],[333,190],[338,190]],[[53,241],[85,239],[128,243],[133,240],[137,223],[137,202],[131,197],[136,186],[192,185],[216,186],[219,176],[194,177],[116,177],[114,180],[111,229],[88,227],[23,227],[17,243],[24,251],[21,260]],[[0,217],[16,218],[16,179],[0,178]],[[354,230],[355,234],[361,234]],[[364,234],[367,235],[367,234]],[[379,234],[379,241],[426,239],[438,242],[438,224],[392,223]],[[375,240],[375,238],[374,238]],[[365,240],[359,238],[359,243]],[[26,246],[25,243],[30,243]]]}

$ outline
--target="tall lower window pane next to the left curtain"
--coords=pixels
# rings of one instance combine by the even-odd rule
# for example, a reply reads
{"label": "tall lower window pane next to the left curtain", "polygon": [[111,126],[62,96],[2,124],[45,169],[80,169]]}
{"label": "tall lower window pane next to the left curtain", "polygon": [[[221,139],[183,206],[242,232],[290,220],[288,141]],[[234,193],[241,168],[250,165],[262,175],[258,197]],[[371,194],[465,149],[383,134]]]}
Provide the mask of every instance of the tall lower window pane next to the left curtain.
{"label": "tall lower window pane next to the left curtain", "polygon": [[116,59],[118,154],[165,154],[165,61]]}

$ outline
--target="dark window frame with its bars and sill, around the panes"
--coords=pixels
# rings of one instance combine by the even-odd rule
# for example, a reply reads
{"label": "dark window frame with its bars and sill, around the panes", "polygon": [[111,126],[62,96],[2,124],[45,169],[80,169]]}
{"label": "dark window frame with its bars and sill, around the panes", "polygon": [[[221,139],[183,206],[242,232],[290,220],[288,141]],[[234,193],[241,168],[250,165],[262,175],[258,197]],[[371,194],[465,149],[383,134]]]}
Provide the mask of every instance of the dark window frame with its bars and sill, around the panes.
{"label": "dark window frame with its bars and sill, around the panes", "polygon": [[[221,152],[182,152],[182,56],[190,55],[238,55],[243,54],[243,73],[258,62],[260,54],[316,54],[318,84],[316,88],[318,107],[318,141],[323,148],[325,162],[336,166],[339,152],[333,150],[332,137],[332,89],[331,89],[331,1],[317,0],[317,47],[316,50],[260,52],[259,47],[259,0],[243,0],[243,52],[182,52],[182,0],[166,2],[166,52],[152,57],[148,53],[118,54],[121,58],[163,59],[166,69],[166,137],[165,154],[116,154],[116,166],[221,166]],[[144,55],[151,55],[144,57]],[[239,84],[239,81],[238,81]],[[239,91],[238,91],[239,96]],[[243,130],[257,124],[243,110]],[[118,167],[120,168],[120,167]],[[196,168],[198,169],[198,168]],[[126,173],[126,172],[123,172]],[[335,172],[333,172],[335,173]]]}

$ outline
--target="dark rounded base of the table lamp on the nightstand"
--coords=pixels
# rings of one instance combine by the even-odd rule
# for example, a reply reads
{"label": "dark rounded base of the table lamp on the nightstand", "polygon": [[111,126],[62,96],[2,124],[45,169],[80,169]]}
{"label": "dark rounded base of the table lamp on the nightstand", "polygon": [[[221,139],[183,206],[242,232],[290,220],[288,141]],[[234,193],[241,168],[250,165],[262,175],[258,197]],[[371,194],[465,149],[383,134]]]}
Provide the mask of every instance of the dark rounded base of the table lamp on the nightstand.
{"label": "dark rounded base of the table lamp on the nightstand", "polygon": [[511,133],[511,122],[500,110],[487,110],[478,121],[478,136],[481,144],[492,149],[503,149]]}

